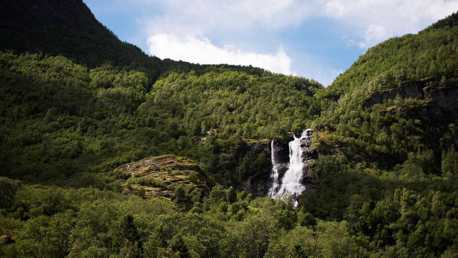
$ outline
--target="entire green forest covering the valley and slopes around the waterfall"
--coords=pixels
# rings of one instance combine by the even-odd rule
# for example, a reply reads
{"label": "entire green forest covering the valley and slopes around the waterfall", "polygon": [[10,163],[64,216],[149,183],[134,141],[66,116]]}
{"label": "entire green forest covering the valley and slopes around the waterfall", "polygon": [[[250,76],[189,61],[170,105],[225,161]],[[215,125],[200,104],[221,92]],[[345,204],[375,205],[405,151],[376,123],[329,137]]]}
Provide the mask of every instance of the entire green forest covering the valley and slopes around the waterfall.
{"label": "entire green forest covering the valley and slopes around the waterfall", "polygon": [[[65,5],[0,18],[0,257],[458,257],[458,14],[323,87],[147,56]],[[308,128],[296,208],[243,186]]]}

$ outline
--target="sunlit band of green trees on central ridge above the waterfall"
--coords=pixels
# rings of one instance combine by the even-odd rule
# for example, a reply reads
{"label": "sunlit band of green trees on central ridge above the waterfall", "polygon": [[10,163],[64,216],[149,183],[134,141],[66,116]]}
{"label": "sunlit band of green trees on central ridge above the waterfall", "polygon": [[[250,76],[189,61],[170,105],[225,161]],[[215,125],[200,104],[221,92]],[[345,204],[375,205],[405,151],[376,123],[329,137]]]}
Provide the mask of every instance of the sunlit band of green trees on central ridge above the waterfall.
{"label": "sunlit band of green trees on central ridge above the waterfall", "polygon": [[310,108],[319,88],[313,80],[281,74],[173,73],[153,84],[139,115],[142,119],[165,118],[156,123],[181,121],[176,129],[188,135],[205,134],[213,128],[243,138],[281,139],[296,120],[306,122],[301,113],[316,114]]}

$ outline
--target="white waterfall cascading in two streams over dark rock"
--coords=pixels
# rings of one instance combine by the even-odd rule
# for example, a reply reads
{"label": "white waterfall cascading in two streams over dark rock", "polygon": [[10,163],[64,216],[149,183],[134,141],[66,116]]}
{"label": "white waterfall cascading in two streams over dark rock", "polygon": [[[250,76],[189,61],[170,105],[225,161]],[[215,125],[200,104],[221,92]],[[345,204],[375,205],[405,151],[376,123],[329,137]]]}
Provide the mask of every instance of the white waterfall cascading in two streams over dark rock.
{"label": "white waterfall cascading in two streams over dark rock", "polygon": [[[312,130],[307,129],[302,132],[300,138],[296,138],[294,135],[294,140],[289,142],[289,168],[284,174],[281,187],[278,189],[278,183],[276,186],[274,182],[273,187],[269,190],[269,196],[274,199],[284,199],[286,196],[293,195],[294,207],[297,206],[296,197],[305,190],[304,185],[301,184],[302,168],[304,163],[302,163],[302,148],[300,147],[300,140],[309,137],[311,133]],[[272,161],[272,164],[274,165],[274,161]],[[277,168],[274,166],[273,170]],[[278,171],[275,170],[275,173],[278,182]],[[275,175],[273,175],[273,177],[275,177]],[[278,191],[276,191],[276,189],[278,189]]]}

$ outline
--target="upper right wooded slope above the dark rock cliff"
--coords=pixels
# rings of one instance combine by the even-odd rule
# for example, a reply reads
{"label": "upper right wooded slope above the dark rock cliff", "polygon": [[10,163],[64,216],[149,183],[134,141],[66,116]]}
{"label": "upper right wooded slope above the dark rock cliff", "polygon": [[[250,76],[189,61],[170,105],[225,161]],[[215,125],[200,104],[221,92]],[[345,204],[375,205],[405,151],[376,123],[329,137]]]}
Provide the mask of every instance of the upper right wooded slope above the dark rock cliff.
{"label": "upper right wooded slope above the dark rock cliff", "polygon": [[319,96],[336,99],[359,86],[373,91],[454,72],[458,66],[457,24],[458,14],[453,13],[418,34],[394,37],[371,47]]}

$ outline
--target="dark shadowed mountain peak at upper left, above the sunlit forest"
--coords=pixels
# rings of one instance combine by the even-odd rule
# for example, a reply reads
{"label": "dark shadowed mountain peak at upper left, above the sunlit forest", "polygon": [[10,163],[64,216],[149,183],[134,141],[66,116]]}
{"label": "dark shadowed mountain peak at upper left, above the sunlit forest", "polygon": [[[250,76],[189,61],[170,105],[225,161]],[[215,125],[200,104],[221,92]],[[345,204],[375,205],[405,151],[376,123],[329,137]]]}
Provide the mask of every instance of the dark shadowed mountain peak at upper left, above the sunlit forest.
{"label": "dark shadowed mountain peak at upper left, above the sunlit forest", "polygon": [[148,58],[136,46],[121,42],[80,0],[18,0],[2,1],[0,5],[6,10],[0,18],[0,45],[4,50],[39,50],[89,67],[110,60],[122,65],[149,62],[148,69],[154,70],[160,62]]}

